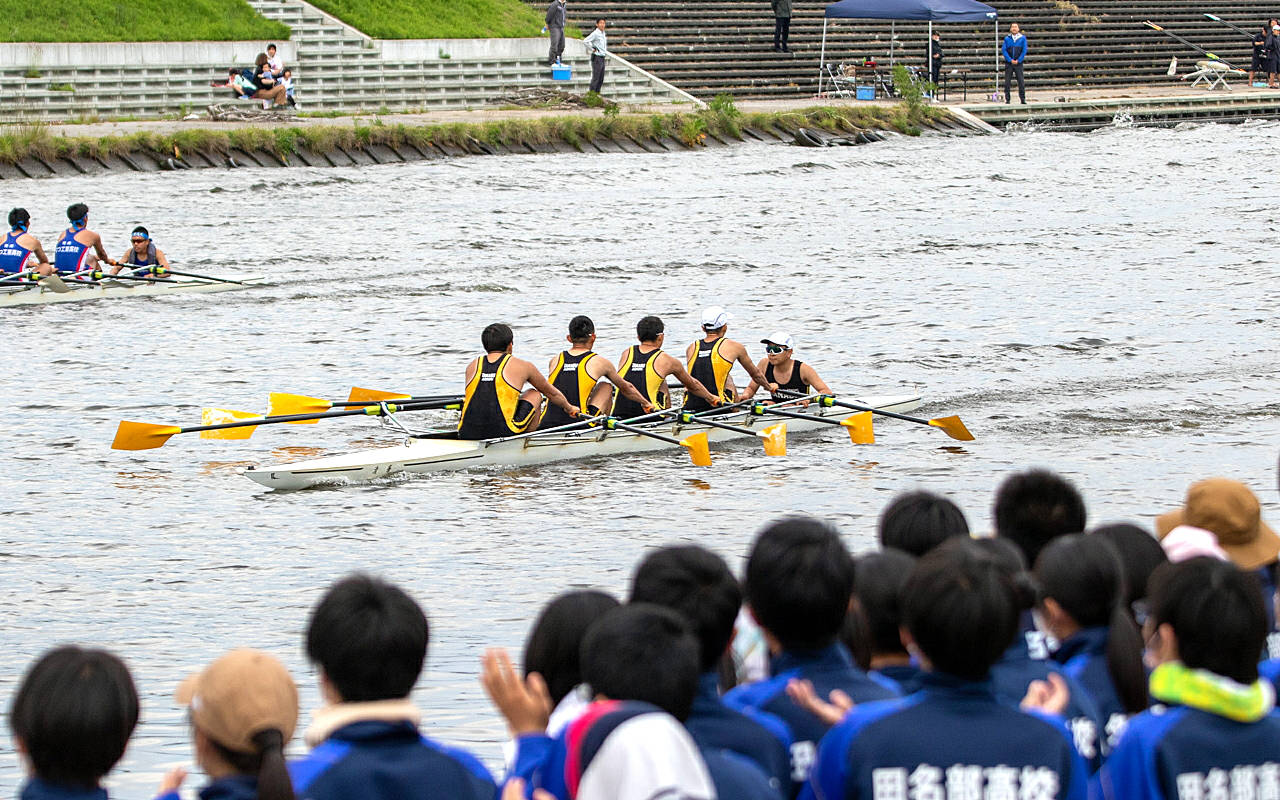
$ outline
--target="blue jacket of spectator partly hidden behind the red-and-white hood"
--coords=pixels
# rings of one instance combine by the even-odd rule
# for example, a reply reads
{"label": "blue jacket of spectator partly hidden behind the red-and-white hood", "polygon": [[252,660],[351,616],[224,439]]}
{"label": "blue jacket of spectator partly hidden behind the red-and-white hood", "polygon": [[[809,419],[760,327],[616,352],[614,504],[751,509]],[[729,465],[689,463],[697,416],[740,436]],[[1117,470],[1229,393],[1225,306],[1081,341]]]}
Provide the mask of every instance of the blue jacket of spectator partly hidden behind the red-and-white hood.
{"label": "blue jacket of spectator partly hidden behind the red-and-white hood", "polygon": [[754,762],[777,791],[790,790],[791,733],[786,723],[760,710],[737,712],[726,705],[719,696],[714,672],[708,672],[699,680],[694,708],[685,727],[704,753],[737,753]]}

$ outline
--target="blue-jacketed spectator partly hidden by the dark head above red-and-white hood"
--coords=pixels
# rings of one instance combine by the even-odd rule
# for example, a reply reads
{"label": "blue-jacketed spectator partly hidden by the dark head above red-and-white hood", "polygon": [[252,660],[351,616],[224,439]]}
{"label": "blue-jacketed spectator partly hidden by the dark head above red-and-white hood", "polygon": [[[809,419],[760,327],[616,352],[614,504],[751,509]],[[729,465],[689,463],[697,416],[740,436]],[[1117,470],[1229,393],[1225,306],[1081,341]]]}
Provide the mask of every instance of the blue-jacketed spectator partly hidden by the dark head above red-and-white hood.
{"label": "blue-jacketed spectator partly hidden by the dark head above red-and-white hood", "polygon": [[791,787],[786,724],[763,712],[724,705],[717,664],[733,637],[742,590],[724,559],[698,545],[676,545],[645,556],[631,576],[631,602],[654,603],[682,614],[699,640],[698,694],[685,719],[700,748],[731,750],[753,760],[777,791]]}

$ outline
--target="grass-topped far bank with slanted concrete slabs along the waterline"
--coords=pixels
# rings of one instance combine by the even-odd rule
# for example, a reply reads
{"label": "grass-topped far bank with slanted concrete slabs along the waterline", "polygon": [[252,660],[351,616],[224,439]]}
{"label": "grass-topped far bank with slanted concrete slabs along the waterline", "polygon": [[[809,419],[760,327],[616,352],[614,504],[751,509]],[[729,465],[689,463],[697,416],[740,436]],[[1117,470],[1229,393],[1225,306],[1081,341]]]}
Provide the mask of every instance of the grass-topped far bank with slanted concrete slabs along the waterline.
{"label": "grass-topped far bank with slanted concrete slabs along the waterline", "polygon": [[[660,106],[659,106],[660,108]],[[599,110],[495,110],[296,123],[118,123],[27,125],[0,134],[0,178],[108,170],[156,172],[225,166],[349,166],[536,152],[663,152],[750,141],[877,141],[883,132],[975,133],[965,114],[890,104],[781,106],[603,114]]]}

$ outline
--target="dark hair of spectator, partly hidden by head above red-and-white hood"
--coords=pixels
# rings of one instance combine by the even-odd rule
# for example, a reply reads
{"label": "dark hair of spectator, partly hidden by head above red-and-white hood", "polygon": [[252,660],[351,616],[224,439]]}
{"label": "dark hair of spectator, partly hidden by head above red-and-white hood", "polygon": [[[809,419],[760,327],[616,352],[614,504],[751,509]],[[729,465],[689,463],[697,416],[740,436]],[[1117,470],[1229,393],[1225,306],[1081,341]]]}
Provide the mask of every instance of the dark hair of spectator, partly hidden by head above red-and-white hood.
{"label": "dark hair of spectator, partly hidden by head above red-and-white hood", "polygon": [[663,605],[685,617],[701,652],[700,669],[714,669],[733,639],[742,590],[724,559],[695,544],[645,556],[631,576],[631,602]]}

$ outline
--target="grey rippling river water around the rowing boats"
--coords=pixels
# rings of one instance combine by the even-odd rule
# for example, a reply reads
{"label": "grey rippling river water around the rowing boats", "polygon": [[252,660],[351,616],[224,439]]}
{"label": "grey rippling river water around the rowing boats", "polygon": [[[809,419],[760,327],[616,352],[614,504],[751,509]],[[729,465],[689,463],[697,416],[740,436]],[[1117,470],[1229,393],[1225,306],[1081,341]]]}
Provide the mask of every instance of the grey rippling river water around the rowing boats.
{"label": "grey rippling river water around the rowing boats", "polygon": [[[191,762],[175,684],[228,648],[279,654],[305,724],[319,703],[307,612],[367,570],[430,614],[425,730],[497,764],[483,648],[518,650],[563,589],[625,591],[645,548],[696,541],[736,568],[754,530],[805,511],[867,549],[879,509],[916,486],[987,530],[1001,477],[1033,465],[1076,481],[1096,522],[1149,525],[1216,474],[1280,521],[1280,237],[1262,169],[1276,136],[1117,128],[5,182],[49,250],[84,201],[113,255],[142,223],[178,269],[274,284],[0,308],[0,704],[54,644],[116,650],[143,721],[110,786],[151,796]],[[494,320],[539,364],[582,312],[612,358],[645,314],[682,351],[713,303],[756,355],[787,329],[837,390],[920,392],[924,416],[957,413],[977,440],[878,422],[874,445],[792,438],[782,460],[717,447],[701,470],[657,454],[297,493],[237,468],[396,436],[343,420],[109,449],[120,419],[262,412],[273,390],[454,390]],[[12,796],[6,727],[0,748]]]}

